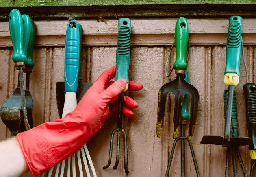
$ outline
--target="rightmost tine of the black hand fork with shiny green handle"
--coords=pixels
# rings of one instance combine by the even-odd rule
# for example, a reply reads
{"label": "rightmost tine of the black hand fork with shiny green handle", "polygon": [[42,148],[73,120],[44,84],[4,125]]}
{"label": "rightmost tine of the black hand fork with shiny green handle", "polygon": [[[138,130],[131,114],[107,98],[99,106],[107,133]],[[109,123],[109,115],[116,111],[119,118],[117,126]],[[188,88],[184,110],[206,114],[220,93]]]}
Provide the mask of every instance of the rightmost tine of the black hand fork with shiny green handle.
{"label": "rightmost tine of the black hand fork with shiny green handle", "polygon": [[[195,87],[194,87],[195,88]],[[191,100],[191,111],[190,111],[190,123],[189,123],[189,135],[188,138],[191,140],[194,131],[195,131],[195,124],[197,120],[197,111],[199,105],[199,92],[195,88],[194,93],[189,95]]]}

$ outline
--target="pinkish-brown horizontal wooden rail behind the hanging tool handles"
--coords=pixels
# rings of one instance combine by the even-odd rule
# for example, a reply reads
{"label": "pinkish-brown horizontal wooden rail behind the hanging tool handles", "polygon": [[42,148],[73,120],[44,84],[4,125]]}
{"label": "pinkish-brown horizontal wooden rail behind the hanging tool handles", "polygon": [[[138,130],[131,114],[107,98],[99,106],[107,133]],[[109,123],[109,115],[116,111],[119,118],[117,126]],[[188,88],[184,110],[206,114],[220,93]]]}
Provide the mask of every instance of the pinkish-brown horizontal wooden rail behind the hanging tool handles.
{"label": "pinkish-brown horizontal wooden rail behind the hanging tool handles", "polygon": [[[177,19],[132,19],[132,45],[169,45]],[[80,20],[83,46],[116,46],[117,20]],[[188,19],[191,45],[226,44],[228,19]],[[0,47],[12,46],[7,22],[0,22]],[[36,21],[36,46],[65,46],[67,21]],[[207,25],[206,25],[207,24]],[[256,41],[256,20],[243,20],[244,44]]]}

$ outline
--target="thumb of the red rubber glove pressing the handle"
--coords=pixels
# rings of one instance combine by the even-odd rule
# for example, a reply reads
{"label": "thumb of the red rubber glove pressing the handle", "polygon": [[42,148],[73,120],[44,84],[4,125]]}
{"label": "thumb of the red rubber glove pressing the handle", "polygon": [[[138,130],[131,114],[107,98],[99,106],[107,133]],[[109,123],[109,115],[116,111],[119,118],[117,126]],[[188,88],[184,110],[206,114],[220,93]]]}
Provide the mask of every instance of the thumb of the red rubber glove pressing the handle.
{"label": "thumb of the red rubber glove pressing the handle", "polygon": [[115,98],[115,96],[118,96],[124,90],[126,83],[126,79],[119,79],[118,81],[107,87],[107,89],[101,93],[101,97],[104,102],[109,102],[110,100]]}

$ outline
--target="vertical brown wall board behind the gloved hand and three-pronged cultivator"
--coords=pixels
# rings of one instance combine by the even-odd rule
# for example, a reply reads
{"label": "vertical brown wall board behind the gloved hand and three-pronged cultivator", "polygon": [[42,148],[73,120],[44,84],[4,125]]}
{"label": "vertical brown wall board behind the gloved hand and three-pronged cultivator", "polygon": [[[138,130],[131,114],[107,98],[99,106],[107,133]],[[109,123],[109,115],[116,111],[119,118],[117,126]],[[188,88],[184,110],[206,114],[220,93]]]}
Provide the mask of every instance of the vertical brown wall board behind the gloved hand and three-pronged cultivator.
{"label": "vertical brown wall board behind the gloved hand and three-pronged cultivator", "polygon": [[[116,48],[114,47],[93,47],[91,50],[91,78],[95,81],[98,76],[111,66],[115,65],[115,53]],[[106,120],[106,123],[102,129],[94,135],[91,140],[89,140],[88,148],[93,160],[93,164],[98,176],[109,177],[109,176],[120,176],[126,177],[124,172],[124,151],[122,146],[122,136],[120,144],[120,159],[119,165],[116,170],[113,170],[116,157],[116,141],[117,136],[114,136],[113,145],[113,156],[112,163],[109,168],[103,170],[102,167],[108,163],[109,156],[109,145],[110,145],[110,135],[113,129],[117,125],[116,117]],[[128,133],[128,131],[126,131]]]}

